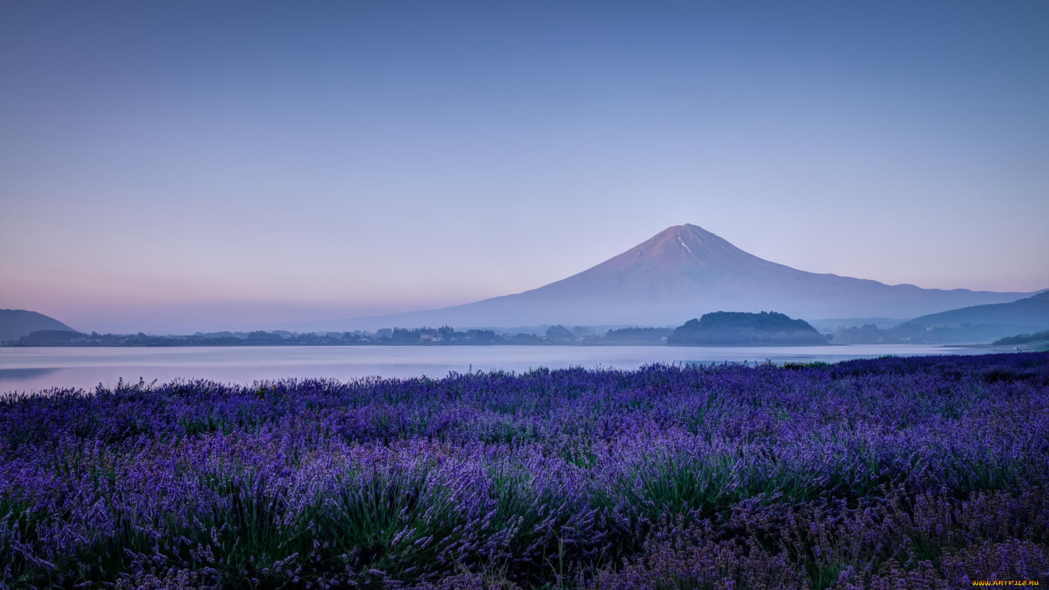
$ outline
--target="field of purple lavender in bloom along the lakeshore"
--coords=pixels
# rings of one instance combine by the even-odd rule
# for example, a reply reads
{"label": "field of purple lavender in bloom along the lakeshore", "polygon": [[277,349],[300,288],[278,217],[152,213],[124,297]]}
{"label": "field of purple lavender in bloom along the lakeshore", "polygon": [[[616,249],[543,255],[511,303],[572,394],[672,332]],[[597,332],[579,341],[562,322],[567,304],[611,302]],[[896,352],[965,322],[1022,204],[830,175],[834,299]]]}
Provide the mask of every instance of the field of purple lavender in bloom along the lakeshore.
{"label": "field of purple lavender in bloom along the lakeshore", "polygon": [[0,401],[0,588],[1049,576],[1044,354]]}

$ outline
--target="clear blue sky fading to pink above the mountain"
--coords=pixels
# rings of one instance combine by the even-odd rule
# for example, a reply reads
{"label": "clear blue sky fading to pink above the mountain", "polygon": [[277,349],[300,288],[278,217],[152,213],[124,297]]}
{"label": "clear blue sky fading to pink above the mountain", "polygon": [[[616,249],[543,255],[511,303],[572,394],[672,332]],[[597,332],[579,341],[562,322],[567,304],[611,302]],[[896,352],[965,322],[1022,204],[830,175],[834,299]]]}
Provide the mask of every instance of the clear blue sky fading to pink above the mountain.
{"label": "clear blue sky fading to pink above the mountain", "polygon": [[1049,287],[1049,3],[0,2],[0,305],[193,331],[539,287],[692,223]]}

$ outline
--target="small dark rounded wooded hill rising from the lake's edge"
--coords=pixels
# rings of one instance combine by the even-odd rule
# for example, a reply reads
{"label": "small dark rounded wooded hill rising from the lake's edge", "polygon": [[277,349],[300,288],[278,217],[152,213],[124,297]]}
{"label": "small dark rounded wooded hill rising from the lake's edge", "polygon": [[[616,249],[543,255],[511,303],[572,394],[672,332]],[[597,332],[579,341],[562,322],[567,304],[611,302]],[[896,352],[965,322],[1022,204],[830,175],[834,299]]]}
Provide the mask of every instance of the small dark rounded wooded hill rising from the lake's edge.
{"label": "small dark rounded wooded hill rising from the lake's edge", "polygon": [[675,329],[668,344],[826,344],[827,339],[801,319],[775,312],[714,312]]}

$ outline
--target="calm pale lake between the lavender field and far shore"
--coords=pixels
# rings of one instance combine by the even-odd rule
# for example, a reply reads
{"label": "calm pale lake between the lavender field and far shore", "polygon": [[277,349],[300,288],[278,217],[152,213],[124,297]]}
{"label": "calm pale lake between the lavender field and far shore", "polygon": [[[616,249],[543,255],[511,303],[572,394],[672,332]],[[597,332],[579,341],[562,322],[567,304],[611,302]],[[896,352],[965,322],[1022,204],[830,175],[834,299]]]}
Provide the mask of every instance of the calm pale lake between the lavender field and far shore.
{"label": "calm pale lake between the lavender field and far shore", "polygon": [[654,362],[826,361],[880,355],[980,354],[989,349],[853,346],[187,346],[4,347],[0,392],[114,385],[119,379],[211,379],[252,383],[284,377],[444,377],[451,371],[540,366],[636,368]]}

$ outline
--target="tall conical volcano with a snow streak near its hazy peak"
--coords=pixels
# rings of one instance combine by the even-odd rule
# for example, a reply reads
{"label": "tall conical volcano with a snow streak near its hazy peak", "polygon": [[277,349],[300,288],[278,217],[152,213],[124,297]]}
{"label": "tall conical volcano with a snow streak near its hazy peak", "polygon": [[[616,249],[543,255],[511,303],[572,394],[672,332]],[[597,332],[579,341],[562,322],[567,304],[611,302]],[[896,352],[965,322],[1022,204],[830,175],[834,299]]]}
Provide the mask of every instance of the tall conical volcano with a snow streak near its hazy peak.
{"label": "tall conical volcano with a snow streak near its hazy peak", "polygon": [[675,226],[622,254],[532,291],[473,303],[330,322],[331,329],[543,323],[677,325],[707,312],[791,317],[917,317],[1030,293],[921,289],[770,262],[693,225]]}

